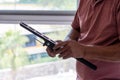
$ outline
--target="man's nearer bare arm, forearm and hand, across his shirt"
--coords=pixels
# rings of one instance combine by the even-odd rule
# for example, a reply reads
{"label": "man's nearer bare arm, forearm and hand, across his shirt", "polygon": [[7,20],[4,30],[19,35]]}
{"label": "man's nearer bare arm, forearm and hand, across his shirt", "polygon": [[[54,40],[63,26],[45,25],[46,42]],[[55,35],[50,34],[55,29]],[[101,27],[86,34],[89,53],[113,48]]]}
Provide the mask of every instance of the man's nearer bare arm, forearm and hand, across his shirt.
{"label": "man's nearer bare arm, forearm and hand, across his shirt", "polygon": [[120,43],[111,46],[88,46],[79,44],[75,40],[68,40],[56,45],[55,49],[61,46],[64,46],[64,48],[59,49],[56,53],[61,53],[59,57],[63,57],[63,59],[74,57],[101,61],[120,61]]}

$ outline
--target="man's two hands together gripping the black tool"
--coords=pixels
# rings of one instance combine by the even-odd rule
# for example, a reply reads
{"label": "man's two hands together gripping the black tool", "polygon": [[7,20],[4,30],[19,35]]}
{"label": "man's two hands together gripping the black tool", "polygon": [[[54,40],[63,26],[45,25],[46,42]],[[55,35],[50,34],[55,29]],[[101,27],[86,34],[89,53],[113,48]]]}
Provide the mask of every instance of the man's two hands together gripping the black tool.
{"label": "man's two hands together gripping the black tool", "polygon": [[47,52],[51,57],[59,54],[59,57],[63,59],[70,57],[81,58],[84,56],[84,46],[74,40],[60,41],[55,45],[53,51],[47,48]]}

